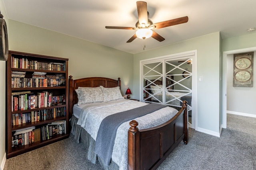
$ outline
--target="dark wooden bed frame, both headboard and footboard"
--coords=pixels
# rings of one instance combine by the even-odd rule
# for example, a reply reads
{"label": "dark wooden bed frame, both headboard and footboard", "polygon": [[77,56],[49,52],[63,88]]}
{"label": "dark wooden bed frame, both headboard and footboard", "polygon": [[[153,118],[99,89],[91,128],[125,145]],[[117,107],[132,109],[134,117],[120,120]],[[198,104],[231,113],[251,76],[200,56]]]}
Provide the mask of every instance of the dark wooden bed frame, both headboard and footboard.
{"label": "dark wooden bed frame, both headboard and footboard", "polygon": [[[80,78],[69,76],[69,117],[74,104],[78,102],[75,90],[78,87],[116,87],[120,78],[114,80],[103,77]],[[183,102],[180,111],[166,123],[149,129],[138,129],[138,122],[130,122],[128,130],[128,170],[156,169],[183,140],[188,143],[187,105]]]}

